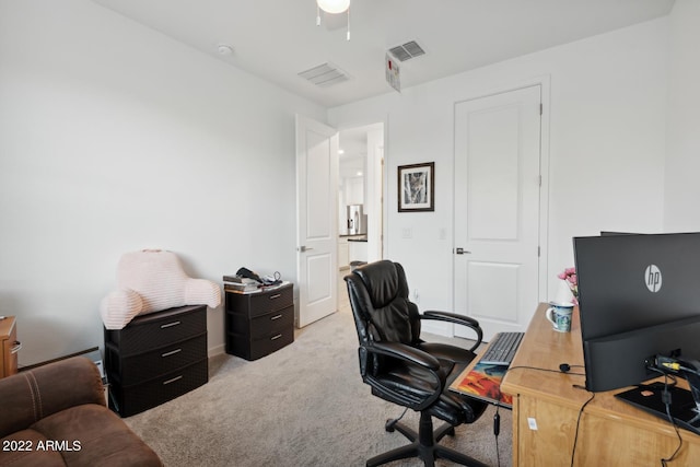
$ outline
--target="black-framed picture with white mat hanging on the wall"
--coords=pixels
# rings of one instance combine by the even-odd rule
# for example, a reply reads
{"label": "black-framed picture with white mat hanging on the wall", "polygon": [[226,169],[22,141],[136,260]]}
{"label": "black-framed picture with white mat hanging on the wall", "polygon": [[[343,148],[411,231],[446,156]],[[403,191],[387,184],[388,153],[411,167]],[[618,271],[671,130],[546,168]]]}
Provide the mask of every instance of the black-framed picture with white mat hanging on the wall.
{"label": "black-framed picture with white mat hanging on the wall", "polygon": [[435,163],[399,165],[398,212],[434,211]]}

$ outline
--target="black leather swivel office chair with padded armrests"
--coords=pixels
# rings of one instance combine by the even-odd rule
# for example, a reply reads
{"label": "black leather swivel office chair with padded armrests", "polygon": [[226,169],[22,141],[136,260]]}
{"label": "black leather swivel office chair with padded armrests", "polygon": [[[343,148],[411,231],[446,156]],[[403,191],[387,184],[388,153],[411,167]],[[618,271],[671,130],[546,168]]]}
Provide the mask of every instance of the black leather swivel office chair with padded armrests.
{"label": "black leather swivel office chair with padded armrests", "polygon": [[[445,312],[420,314],[408,300],[406,273],[398,262],[382,260],[362,266],[345,278],[360,340],[360,373],[372,394],[389,402],[420,411],[418,433],[387,420],[386,431],[398,430],[412,443],[368,460],[378,466],[392,460],[420,457],[427,466],[445,458],[466,466],[485,464],[438,444],[454,435],[454,427],[472,423],[487,405],[448,390],[452,382],[476,357],[481,328],[476,319]],[[422,319],[456,323],[471,328],[477,342],[469,349],[429,343],[420,338]],[[446,423],[433,431],[432,417]]]}

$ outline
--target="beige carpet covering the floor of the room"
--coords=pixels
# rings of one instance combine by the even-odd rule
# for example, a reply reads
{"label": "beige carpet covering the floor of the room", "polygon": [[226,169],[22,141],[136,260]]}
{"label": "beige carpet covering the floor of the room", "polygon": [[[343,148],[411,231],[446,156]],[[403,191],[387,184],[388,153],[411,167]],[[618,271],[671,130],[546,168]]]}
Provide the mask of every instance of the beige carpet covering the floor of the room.
{"label": "beige carpet covering the floor of the room", "polygon": [[[385,432],[385,420],[402,409],[371,395],[359,374],[357,348],[352,315],[343,306],[264,359],[211,359],[208,384],[125,420],[168,467],[363,466],[407,440]],[[499,465],[494,410],[458,427],[443,444]],[[500,465],[510,466],[512,417],[504,409],[500,415]],[[417,428],[418,415],[409,411],[404,420]]]}

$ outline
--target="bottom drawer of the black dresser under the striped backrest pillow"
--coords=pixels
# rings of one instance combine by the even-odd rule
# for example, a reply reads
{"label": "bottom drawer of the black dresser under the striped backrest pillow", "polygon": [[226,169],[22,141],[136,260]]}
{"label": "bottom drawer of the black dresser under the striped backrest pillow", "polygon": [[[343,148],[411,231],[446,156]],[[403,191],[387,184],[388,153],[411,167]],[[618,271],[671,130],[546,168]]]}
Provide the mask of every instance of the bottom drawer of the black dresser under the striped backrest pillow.
{"label": "bottom drawer of the black dresser under the striped backrest pillow", "polygon": [[130,417],[186,394],[209,381],[207,359],[170,372],[142,384],[109,387],[109,407],[121,417]]}

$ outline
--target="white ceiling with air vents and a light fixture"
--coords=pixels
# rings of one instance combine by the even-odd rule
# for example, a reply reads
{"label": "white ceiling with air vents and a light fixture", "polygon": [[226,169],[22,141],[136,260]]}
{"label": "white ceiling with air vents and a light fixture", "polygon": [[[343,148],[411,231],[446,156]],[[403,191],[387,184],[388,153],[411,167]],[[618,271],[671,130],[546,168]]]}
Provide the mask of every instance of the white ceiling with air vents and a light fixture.
{"label": "white ceiling with air vents and a light fixture", "polygon": [[[388,48],[417,40],[401,87],[668,14],[674,0],[352,0],[322,16],[315,0],[93,0],[261,79],[332,107],[394,92]],[[219,44],[233,47],[221,56]],[[350,75],[320,89],[298,73],[331,62]]]}

